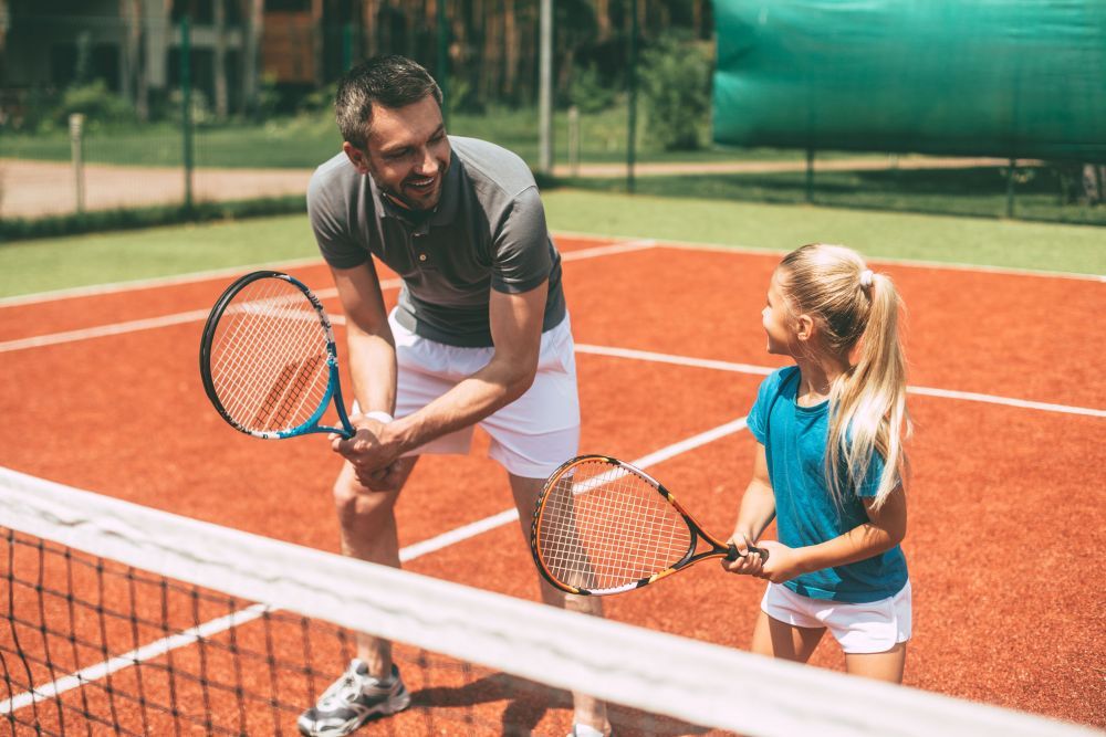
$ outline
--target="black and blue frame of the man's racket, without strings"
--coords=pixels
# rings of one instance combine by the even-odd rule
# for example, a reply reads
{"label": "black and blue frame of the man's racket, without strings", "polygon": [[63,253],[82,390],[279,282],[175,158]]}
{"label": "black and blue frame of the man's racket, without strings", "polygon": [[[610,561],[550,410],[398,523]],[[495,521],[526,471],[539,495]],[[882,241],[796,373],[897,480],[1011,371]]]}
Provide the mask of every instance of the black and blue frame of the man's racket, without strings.
{"label": "black and blue frame of the man's racket, without strings", "polygon": [[[292,286],[300,289],[300,292],[302,292],[311,303],[311,306],[314,307],[315,315],[317,315],[319,322],[322,324],[323,330],[326,335],[326,367],[328,373],[326,391],[323,393],[323,398],[319,402],[319,407],[306,421],[295,428],[269,432],[262,430],[251,430],[234,420],[234,418],[230,415],[230,412],[227,411],[227,409],[222,406],[222,402],[219,400],[219,394],[215,388],[215,380],[211,378],[211,343],[215,339],[215,333],[219,326],[220,318],[222,318],[222,314],[226,312],[233,298],[238,296],[239,292],[244,289],[248,285],[263,278],[279,278],[288,282]],[[349,415],[346,413],[345,402],[342,399],[342,383],[338,379],[338,350],[337,344],[334,341],[334,329],[331,327],[331,319],[326,316],[326,310],[323,309],[323,303],[320,302],[319,297],[315,296],[307,285],[294,276],[290,276],[283,272],[268,270],[250,272],[249,274],[236,280],[223,291],[218,302],[216,302],[215,306],[211,308],[211,313],[208,315],[207,322],[204,324],[204,335],[200,338],[200,377],[204,379],[204,391],[207,392],[208,399],[211,400],[211,403],[215,406],[216,410],[218,410],[222,419],[226,420],[227,423],[234,430],[244,432],[248,435],[261,438],[262,440],[284,440],[285,438],[309,435],[317,432],[337,433],[343,438],[353,438],[356,432],[349,423]],[[331,428],[319,424],[323,413],[326,412],[326,407],[332,400],[334,401],[334,407],[337,410],[338,420],[342,422],[341,428]]]}

